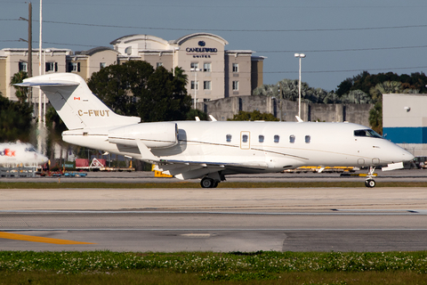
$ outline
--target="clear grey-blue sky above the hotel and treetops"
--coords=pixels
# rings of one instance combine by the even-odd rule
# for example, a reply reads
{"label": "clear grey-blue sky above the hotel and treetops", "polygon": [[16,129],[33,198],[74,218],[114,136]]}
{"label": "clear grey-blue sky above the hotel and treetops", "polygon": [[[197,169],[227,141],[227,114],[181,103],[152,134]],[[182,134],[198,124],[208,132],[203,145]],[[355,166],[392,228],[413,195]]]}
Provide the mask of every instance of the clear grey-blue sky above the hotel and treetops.
{"label": "clear grey-blue sky above the hotel and treetops", "polygon": [[[297,79],[333,91],[348,78],[427,72],[425,0],[42,0],[43,47],[88,50],[118,37],[173,40],[198,32],[223,37],[227,50],[265,56],[264,84]],[[39,7],[33,5],[38,48]],[[28,2],[0,0],[0,49],[28,47]]]}

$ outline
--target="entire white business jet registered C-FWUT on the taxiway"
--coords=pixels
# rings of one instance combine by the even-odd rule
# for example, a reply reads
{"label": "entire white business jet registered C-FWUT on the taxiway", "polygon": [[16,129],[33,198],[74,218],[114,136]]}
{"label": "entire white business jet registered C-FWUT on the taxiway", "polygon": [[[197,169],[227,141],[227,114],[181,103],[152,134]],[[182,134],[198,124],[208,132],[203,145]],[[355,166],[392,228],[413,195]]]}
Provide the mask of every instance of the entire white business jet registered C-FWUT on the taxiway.
{"label": "entire white business jet registered C-FWUT on the taxiway", "polygon": [[350,123],[176,121],[140,123],[114,113],[72,73],[31,77],[68,127],[64,142],[141,159],[179,179],[214,188],[225,175],[280,172],[302,166],[403,167],[414,156],[372,129]]}

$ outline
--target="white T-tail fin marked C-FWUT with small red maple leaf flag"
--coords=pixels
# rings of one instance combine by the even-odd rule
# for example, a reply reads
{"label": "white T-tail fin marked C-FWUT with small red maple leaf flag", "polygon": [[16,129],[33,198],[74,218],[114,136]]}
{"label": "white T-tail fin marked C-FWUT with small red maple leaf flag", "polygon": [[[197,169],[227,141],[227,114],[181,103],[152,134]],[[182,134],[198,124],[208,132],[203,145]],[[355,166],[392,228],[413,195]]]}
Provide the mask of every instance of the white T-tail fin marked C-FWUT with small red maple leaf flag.
{"label": "white T-tail fin marked C-FWUT with small red maple leaf flag", "polygon": [[117,115],[96,97],[85,80],[73,73],[24,79],[21,86],[39,86],[68,129],[137,124],[141,118]]}

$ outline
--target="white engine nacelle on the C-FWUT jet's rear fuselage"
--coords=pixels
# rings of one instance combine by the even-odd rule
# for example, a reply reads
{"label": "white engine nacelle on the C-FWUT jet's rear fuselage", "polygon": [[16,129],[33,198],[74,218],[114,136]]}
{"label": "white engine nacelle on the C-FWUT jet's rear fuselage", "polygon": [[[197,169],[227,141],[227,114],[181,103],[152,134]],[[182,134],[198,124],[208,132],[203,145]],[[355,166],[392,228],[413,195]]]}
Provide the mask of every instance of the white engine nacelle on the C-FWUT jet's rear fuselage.
{"label": "white engine nacelle on the C-FWUT jet's rear fuselage", "polygon": [[141,123],[109,130],[109,142],[128,146],[141,140],[148,148],[170,148],[178,143],[178,126],[173,122]]}

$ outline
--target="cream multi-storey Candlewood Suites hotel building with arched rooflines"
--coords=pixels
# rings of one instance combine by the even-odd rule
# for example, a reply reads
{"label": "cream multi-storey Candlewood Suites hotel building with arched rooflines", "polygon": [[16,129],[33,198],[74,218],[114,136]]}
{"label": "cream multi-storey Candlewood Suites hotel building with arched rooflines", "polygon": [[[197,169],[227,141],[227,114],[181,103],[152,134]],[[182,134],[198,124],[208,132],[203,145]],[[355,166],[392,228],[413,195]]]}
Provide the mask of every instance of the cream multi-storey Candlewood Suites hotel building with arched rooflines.
{"label": "cream multi-storey Candlewood Suites hotel building with arched rooflines", "polygon": [[[85,79],[110,64],[148,61],[154,68],[181,67],[188,75],[188,94],[196,102],[208,102],[232,96],[250,95],[262,85],[264,57],[250,50],[225,50],[222,37],[196,33],[166,41],[149,35],[120,37],[113,48],[96,47],[73,53],[68,49],[44,49],[44,72],[73,72]],[[38,75],[38,50],[33,50],[33,76]],[[6,48],[0,51],[0,92],[16,100],[11,77],[28,70],[28,49]],[[33,98],[36,102],[36,98]]]}

